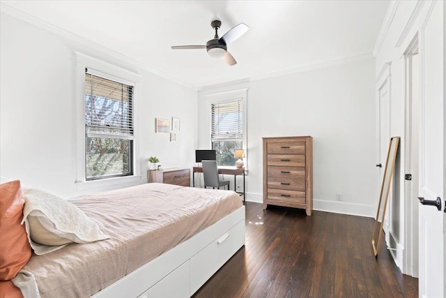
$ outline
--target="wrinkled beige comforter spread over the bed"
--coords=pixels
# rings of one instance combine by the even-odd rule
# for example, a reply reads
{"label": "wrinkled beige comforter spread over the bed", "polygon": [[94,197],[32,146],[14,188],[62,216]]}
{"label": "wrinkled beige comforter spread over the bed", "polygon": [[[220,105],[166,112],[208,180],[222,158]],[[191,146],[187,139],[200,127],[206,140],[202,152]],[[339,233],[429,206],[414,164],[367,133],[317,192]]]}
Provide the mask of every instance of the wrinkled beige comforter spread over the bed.
{"label": "wrinkled beige comforter spread over the bed", "polygon": [[40,297],[90,297],[240,208],[233,191],[144,184],[70,200],[110,239],[33,255]]}

